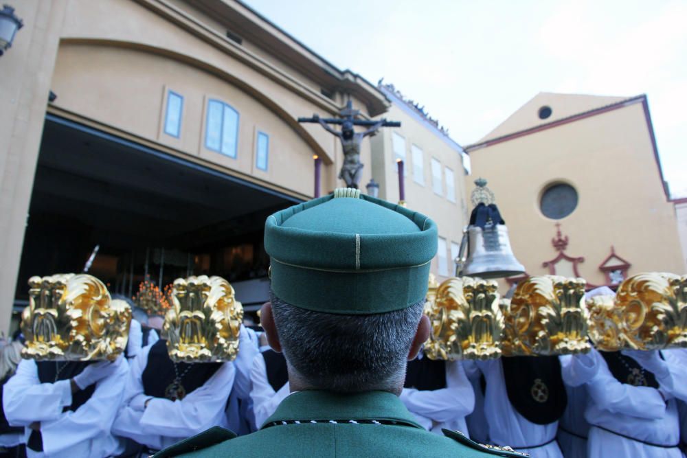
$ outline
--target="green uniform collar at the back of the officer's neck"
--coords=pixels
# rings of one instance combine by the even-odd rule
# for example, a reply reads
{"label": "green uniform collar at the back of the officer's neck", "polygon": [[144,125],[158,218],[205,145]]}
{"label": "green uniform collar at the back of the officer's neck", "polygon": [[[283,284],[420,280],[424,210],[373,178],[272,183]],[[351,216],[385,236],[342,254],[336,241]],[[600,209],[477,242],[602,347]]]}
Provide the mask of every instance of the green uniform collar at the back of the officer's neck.
{"label": "green uniform collar at the back of the officer's neck", "polygon": [[287,396],[264,424],[294,420],[301,422],[377,420],[423,429],[398,396],[388,391],[362,393],[297,391]]}

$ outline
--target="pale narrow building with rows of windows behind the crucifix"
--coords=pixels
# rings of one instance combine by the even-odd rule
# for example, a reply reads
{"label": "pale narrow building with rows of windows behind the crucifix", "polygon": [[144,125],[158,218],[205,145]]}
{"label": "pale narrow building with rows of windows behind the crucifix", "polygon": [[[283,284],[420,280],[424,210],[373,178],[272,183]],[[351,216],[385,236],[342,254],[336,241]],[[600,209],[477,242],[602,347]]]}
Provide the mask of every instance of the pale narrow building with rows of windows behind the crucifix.
{"label": "pale narrow building with rows of windows behind the crucifix", "polygon": [[379,181],[381,198],[399,201],[397,160],[403,161],[407,206],[427,214],[439,228],[432,272],[441,282],[455,273],[453,260],[467,221],[466,154],[436,120],[392,84],[380,84],[379,89],[392,102],[385,117],[401,121],[401,127],[372,137],[372,177]]}

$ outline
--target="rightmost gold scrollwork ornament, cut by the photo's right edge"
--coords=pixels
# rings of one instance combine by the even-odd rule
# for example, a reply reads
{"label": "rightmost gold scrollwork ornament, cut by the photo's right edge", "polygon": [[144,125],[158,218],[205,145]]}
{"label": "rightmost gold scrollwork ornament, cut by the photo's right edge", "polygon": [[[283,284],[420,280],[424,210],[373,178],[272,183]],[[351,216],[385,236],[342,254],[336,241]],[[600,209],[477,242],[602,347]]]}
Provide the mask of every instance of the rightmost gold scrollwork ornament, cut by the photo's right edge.
{"label": "rightmost gold scrollwork ornament, cut by the photo's right edge", "polygon": [[687,347],[687,275],[640,273],[612,296],[587,301],[589,337],[600,350]]}

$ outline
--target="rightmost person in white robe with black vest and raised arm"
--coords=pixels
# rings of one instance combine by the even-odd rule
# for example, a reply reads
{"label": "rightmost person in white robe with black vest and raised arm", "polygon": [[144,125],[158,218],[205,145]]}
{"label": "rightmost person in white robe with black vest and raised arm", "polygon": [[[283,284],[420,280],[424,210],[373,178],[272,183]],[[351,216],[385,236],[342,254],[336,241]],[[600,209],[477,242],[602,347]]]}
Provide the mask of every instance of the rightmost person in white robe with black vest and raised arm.
{"label": "rightmost person in white robe with black vest and raised arm", "polygon": [[[596,288],[585,295],[614,295]],[[572,356],[563,365],[563,378],[572,386],[586,385],[585,418],[591,425],[587,440],[590,458],[631,456],[681,458],[675,398],[687,398],[686,370],[670,363],[670,350],[608,352],[595,349]],[[663,353],[663,354],[662,354]],[[609,369],[613,362],[624,380]],[[652,386],[650,386],[652,385]]]}

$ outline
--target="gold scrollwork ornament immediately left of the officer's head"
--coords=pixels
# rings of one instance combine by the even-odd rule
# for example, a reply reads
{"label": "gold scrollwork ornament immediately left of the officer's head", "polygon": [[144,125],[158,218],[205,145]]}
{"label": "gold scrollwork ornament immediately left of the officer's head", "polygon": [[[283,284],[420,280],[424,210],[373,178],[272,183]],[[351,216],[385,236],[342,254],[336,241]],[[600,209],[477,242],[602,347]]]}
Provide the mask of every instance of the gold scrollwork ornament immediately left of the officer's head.
{"label": "gold scrollwork ornament immediately left of the officer's head", "polygon": [[238,354],[243,306],[222,277],[174,280],[163,333],[173,361],[230,361]]}

